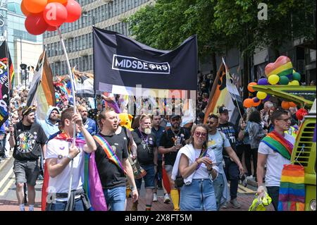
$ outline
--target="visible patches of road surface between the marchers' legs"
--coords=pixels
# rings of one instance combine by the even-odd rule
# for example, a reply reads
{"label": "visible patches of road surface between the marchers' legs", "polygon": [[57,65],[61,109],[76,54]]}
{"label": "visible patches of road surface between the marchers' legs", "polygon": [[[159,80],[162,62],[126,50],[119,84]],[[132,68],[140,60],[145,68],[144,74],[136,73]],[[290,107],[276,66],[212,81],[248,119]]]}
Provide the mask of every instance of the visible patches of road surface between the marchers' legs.
{"label": "visible patches of road surface between the marchers' legs", "polygon": [[[10,152],[12,154],[12,152]],[[13,174],[13,157],[7,162],[2,162],[0,164],[0,211],[18,211],[18,200],[15,195],[15,177]],[[36,197],[35,197],[35,211],[41,211],[41,191],[42,191],[43,181],[37,181],[35,186]],[[228,209],[220,209],[220,211],[247,211],[254,199],[254,194],[256,188],[254,186],[248,185],[244,187],[239,185],[237,200],[240,202],[242,207],[240,209],[234,209],[230,204],[228,204]],[[158,202],[152,203],[152,211],[173,211],[173,205],[163,203],[163,190],[157,191]],[[127,211],[130,211],[132,206],[132,200],[129,197],[127,202]],[[27,205],[25,205],[25,210],[28,210]],[[145,191],[144,186],[139,197],[138,210],[145,210]],[[273,207],[270,205],[267,208],[268,211],[273,211]]]}

